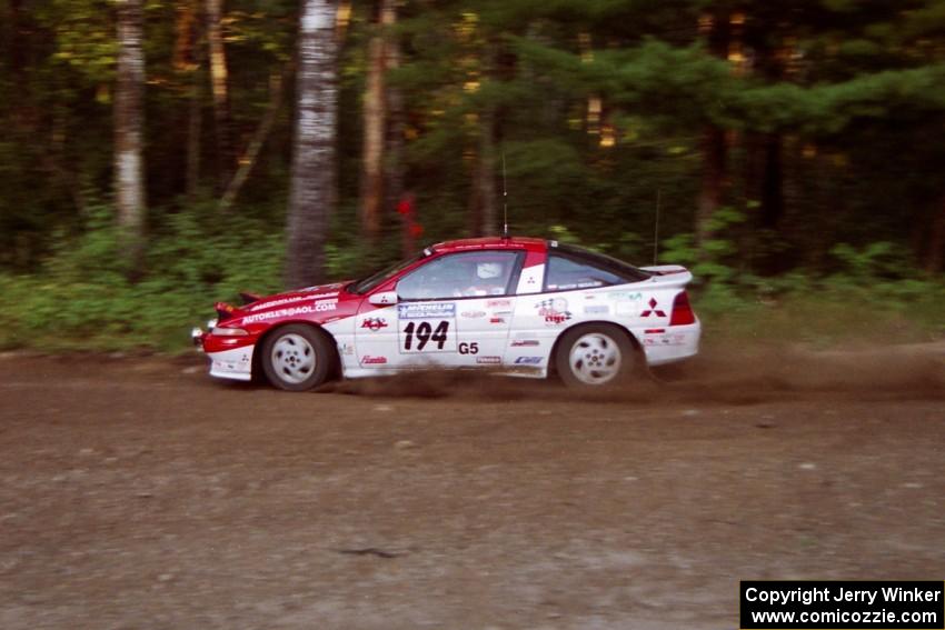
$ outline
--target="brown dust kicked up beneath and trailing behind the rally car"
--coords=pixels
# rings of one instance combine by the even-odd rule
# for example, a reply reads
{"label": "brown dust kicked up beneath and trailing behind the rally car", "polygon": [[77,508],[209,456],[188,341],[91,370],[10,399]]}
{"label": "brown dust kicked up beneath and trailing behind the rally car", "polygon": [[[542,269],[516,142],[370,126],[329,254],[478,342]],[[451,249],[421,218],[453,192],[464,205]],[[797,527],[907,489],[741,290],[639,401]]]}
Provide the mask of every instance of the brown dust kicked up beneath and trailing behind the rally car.
{"label": "brown dust kicked up beneath and trailing behind the rally car", "polygon": [[559,380],[424,370],[328,383],[318,391],[389,398],[753,404],[797,397],[945,400],[945,347],[917,344],[815,351],[790,346],[714,348],[694,360],[614,388],[574,389]]}

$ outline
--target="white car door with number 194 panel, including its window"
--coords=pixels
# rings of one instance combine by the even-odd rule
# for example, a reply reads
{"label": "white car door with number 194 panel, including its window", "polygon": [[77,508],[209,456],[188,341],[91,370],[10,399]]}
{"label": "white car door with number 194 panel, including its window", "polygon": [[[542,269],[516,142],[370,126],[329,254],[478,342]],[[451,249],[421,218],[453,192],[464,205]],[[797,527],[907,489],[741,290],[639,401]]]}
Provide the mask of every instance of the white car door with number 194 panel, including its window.
{"label": "white car door with number 194 panel, including its window", "polygon": [[[489,367],[501,363],[508,341],[524,252],[476,250],[447,253],[408,272],[397,282],[397,306],[385,309],[396,328],[358,329],[358,349],[377,347],[384,362],[364,368]],[[392,319],[391,319],[392,318]],[[396,338],[391,334],[396,330]],[[380,334],[377,334],[380,332]],[[385,334],[385,332],[387,332]],[[371,354],[372,356],[372,354]]]}

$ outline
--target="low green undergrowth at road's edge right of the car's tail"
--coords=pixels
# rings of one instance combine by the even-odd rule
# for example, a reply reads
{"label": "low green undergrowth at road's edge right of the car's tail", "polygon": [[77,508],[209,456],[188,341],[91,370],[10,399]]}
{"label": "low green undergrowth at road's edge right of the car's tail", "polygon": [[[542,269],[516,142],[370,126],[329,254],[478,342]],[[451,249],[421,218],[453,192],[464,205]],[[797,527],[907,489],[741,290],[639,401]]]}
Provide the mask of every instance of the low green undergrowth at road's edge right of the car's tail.
{"label": "low green undergrowth at road's edge right of the car's tail", "polygon": [[833,253],[840,267],[829,276],[798,270],[759,278],[710,263],[712,282],[697,289],[707,333],[817,344],[926,341],[945,334],[941,278],[904,264],[904,252],[887,242],[862,250],[840,243]]}

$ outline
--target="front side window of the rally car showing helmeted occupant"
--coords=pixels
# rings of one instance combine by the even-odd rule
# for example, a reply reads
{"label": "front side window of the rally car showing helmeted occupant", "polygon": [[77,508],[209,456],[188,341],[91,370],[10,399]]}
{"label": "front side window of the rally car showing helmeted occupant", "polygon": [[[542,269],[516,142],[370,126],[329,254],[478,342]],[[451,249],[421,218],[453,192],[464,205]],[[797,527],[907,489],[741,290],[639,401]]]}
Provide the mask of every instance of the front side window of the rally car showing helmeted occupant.
{"label": "front side window of the rally car showing helmeted occupant", "polygon": [[400,300],[442,300],[506,296],[517,279],[521,254],[466,251],[431,260],[397,282]]}

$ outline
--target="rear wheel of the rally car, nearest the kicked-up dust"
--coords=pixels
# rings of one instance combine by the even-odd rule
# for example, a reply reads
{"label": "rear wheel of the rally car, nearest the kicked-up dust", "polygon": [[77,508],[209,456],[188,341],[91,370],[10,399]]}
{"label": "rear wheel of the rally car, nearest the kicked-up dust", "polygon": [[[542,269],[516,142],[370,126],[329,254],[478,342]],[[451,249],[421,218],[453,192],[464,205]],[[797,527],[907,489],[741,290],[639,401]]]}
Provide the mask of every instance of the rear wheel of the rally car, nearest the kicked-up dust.
{"label": "rear wheel of the rally car, nearest the kicked-up dust", "polygon": [[640,357],[617,326],[588,323],[561,336],[555,368],[568,387],[590,388],[625,383],[639,370]]}

